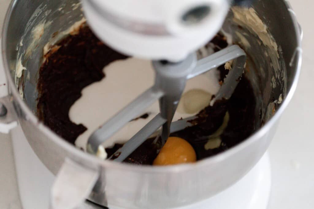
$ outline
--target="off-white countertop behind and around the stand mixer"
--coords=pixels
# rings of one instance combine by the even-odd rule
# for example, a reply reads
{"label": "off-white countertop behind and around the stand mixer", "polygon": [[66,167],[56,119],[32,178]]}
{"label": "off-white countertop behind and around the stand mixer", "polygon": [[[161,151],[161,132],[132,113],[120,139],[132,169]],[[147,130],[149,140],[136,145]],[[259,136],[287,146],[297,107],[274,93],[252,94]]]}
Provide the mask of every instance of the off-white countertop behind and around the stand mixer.
{"label": "off-white countertop behind and around the stand mixer", "polygon": [[[299,85],[284,112],[269,148],[272,163],[272,193],[269,209],[314,208],[314,1],[290,0],[304,32],[303,63]],[[0,29],[9,0],[0,0]],[[0,134],[0,208],[20,209],[12,144]]]}

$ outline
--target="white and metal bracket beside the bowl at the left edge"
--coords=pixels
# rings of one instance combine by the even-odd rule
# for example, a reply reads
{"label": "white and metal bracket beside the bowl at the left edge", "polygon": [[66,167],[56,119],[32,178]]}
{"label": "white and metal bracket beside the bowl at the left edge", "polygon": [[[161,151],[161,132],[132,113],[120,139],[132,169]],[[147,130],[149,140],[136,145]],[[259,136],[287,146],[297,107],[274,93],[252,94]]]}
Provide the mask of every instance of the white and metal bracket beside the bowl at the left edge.
{"label": "white and metal bracket beside the bowl at the left edge", "polygon": [[0,133],[9,133],[12,128],[18,125],[12,101],[12,96],[9,95],[3,61],[0,57]]}

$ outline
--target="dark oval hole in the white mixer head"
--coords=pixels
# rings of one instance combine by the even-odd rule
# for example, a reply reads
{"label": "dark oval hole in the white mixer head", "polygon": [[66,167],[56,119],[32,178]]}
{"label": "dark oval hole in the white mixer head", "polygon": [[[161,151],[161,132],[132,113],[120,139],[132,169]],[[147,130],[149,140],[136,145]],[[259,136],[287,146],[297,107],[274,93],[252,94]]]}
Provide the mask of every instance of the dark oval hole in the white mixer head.
{"label": "dark oval hole in the white mixer head", "polygon": [[208,5],[200,5],[188,10],[183,14],[182,20],[184,24],[193,25],[198,24],[210,13],[210,7]]}

